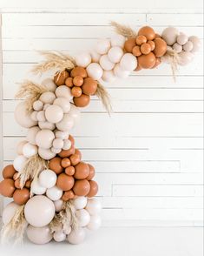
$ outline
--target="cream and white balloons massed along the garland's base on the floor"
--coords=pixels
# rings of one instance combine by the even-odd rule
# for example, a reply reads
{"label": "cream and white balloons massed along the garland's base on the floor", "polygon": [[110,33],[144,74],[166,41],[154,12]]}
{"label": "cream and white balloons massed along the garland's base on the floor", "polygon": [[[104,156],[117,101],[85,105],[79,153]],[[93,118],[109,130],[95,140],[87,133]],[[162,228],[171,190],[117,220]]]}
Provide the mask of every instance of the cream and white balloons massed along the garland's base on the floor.
{"label": "cream and white balloons massed along the garland's base on the floor", "polygon": [[[67,240],[70,244],[80,244],[85,238],[86,228],[95,231],[101,224],[100,212],[101,202],[98,199],[87,199],[77,197],[73,200],[78,226],[56,226],[54,232],[51,231],[49,223],[54,219],[55,214],[63,211],[63,200],[52,201],[43,195],[32,197],[24,207],[24,216],[27,222],[26,233],[31,242],[43,245],[49,243],[51,239],[56,242]],[[11,202],[3,210],[3,224],[7,225],[14,217],[20,205]]]}

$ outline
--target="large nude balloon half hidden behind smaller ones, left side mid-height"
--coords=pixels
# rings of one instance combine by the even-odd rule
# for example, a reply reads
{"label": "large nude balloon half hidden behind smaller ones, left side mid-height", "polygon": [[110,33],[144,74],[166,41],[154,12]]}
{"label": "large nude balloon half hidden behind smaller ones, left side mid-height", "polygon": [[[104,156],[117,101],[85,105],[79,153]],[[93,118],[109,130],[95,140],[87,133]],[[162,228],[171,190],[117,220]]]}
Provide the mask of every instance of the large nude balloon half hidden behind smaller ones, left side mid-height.
{"label": "large nude balloon half hidden behind smaller ones, left side mid-height", "polygon": [[30,113],[26,109],[25,102],[21,102],[16,106],[14,116],[18,125],[24,128],[30,128],[37,125],[37,122],[30,118]]}

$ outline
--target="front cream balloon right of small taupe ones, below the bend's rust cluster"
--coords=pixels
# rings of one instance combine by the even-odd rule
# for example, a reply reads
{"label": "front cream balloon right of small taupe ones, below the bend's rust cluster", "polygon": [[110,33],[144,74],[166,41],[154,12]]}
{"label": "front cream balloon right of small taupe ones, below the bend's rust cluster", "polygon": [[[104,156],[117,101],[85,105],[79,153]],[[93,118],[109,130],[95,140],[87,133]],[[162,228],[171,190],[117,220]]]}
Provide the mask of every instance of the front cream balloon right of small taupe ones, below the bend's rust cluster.
{"label": "front cream balloon right of small taupe ones, below the bend's rust cluster", "polygon": [[49,123],[58,123],[63,119],[63,109],[57,104],[51,104],[45,111],[45,118]]}

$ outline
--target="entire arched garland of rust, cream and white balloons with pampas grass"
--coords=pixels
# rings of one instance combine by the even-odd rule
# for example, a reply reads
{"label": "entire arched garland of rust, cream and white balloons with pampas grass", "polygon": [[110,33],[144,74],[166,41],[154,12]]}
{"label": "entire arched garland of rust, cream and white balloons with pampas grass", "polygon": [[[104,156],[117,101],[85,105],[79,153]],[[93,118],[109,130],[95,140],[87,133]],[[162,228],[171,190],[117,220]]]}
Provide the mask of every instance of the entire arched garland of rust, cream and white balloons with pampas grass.
{"label": "entire arched garland of rust, cream and white balloons with pampas grass", "polygon": [[23,239],[24,233],[36,244],[63,240],[79,244],[85,228],[101,226],[102,205],[95,197],[98,185],[95,168],[82,161],[69,131],[79,122],[79,108],[92,95],[101,98],[111,112],[104,82],[128,77],[131,71],[154,69],[162,62],[186,65],[200,48],[198,37],[188,37],[168,27],[161,35],[144,26],[137,33],[111,23],[115,36],[101,39],[94,51],[75,58],[43,52],[45,61],[34,72],[56,71],[41,84],[25,81],[16,98],[16,122],[27,128],[26,139],[17,145],[13,165],[3,169],[0,193],[13,201],[3,210],[2,239]]}

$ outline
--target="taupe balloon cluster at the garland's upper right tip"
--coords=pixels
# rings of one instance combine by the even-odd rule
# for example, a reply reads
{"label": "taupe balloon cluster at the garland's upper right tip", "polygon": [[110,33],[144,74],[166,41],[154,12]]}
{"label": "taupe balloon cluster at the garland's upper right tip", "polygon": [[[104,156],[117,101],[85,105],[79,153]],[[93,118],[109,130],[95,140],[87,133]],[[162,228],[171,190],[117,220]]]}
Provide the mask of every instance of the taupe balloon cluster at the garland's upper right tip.
{"label": "taupe balloon cluster at the garland's upper right tip", "polygon": [[[188,37],[174,27],[163,30],[161,37],[168,44],[168,51],[178,53],[178,64],[180,65],[189,64],[194,57],[194,52],[199,51],[201,48],[201,41],[198,37]],[[162,61],[168,62],[169,57],[162,57]]]}

